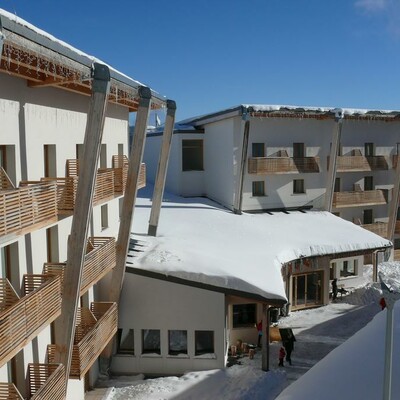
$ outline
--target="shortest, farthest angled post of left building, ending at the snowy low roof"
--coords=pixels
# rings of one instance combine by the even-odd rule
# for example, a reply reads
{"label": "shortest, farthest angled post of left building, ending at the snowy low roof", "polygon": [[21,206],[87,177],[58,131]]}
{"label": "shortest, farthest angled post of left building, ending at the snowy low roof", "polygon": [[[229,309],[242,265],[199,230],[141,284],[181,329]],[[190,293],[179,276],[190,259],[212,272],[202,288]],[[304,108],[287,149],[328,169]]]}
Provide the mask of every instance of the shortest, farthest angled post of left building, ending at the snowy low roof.
{"label": "shortest, farthest angled post of left building, ending at the snowy low roof", "polygon": [[160,159],[158,161],[157,175],[154,182],[154,192],[149,220],[149,236],[157,235],[158,221],[160,219],[161,203],[167,177],[169,151],[171,148],[172,134],[174,131],[176,104],[173,100],[167,100],[167,118],[165,119],[163,140]]}

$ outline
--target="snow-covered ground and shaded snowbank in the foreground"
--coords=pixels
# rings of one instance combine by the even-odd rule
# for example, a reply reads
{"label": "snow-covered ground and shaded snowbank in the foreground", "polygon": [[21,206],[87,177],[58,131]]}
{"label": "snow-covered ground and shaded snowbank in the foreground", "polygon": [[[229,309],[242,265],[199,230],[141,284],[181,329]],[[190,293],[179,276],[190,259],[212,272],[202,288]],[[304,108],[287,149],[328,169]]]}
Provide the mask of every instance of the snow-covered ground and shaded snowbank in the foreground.
{"label": "snow-covered ground and shaded snowbank in the foreground", "polygon": [[[379,266],[385,282],[400,288],[400,263]],[[302,400],[379,399],[383,382],[386,310],[381,311],[372,268],[356,290],[327,306],[281,318],[296,336],[293,365],[277,366],[279,343],[271,345],[271,371],[261,371],[261,354],[224,370],[188,372],[182,377],[144,380],[118,377],[101,382],[112,387],[107,400]],[[393,373],[400,375],[400,302],[395,307]],[[349,339],[350,338],[350,339]],[[347,340],[349,339],[349,340]],[[322,360],[322,361],[320,361]],[[283,390],[283,392],[282,392]],[[393,399],[400,399],[400,381],[393,380]]]}

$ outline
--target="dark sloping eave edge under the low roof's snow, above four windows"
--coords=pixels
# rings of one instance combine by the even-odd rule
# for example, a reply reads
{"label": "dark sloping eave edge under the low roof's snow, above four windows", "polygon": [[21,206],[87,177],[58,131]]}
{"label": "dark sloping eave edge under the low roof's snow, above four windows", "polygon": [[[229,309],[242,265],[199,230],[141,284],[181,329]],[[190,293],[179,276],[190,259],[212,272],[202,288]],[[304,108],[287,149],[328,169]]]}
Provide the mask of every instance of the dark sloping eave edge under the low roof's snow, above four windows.
{"label": "dark sloping eave edge under the low roof's snow, above four windows", "polygon": [[159,279],[159,280],[163,280],[163,281],[167,281],[167,282],[171,282],[171,283],[177,283],[180,285],[191,286],[191,287],[195,287],[198,289],[210,290],[213,292],[223,293],[226,295],[232,295],[232,296],[253,299],[253,300],[263,302],[263,303],[268,303],[269,305],[276,306],[276,307],[281,307],[287,303],[286,299],[283,299],[282,297],[280,297],[278,295],[271,294],[270,296],[269,295],[264,296],[264,295],[261,295],[260,293],[249,292],[249,291],[238,290],[238,289],[231,289],[231,288],[222,287],[222,286],[216,286],[216,285],[212,285],[209,283],[184,279],[181,277],[174,276],[172,274],[167,275],[162,272],[150,271],[148,269],[127,266],[126,272],[130,273],[130,274],[144,276],[147,278]]}

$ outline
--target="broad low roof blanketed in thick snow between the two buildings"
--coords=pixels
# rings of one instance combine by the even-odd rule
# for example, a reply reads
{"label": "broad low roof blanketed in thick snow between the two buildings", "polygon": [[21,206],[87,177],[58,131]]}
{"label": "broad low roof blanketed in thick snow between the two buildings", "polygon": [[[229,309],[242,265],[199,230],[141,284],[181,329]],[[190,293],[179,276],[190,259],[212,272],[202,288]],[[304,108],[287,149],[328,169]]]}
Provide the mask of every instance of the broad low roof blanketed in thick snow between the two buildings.
{"label": "broad low roof blanketed in thick snow between the two buildings", "polygon": [[127,267],[137,272],[284,301],[283,264],[391,246],[328,212],[235,215],[208,199],[171,194],[164,195],[158,236],[148,237],[150,189],[139,192],[135,208],[132,238],[144,251],[131,251]]}

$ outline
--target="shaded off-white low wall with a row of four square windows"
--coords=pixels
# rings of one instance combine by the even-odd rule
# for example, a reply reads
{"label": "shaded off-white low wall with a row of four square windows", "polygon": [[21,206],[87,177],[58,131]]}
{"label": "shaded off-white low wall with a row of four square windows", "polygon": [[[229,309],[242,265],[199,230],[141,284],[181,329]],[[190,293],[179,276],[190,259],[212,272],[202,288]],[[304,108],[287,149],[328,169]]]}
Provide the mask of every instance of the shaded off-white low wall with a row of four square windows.
{"label": "shaded off-white low wall with a row of four square windows", "polygon": [[[115,354],[113,373],[172,375],[225,366],[225,296],[221,293],[127,273],[118,325],[134,329],[135,355]],[[142,329],[161,331],[160,356],[141,354]],[[168,330],[187,331],[187,357],[168,355]],[[196,330],[214,331],[213,357],[194,355]]]}

